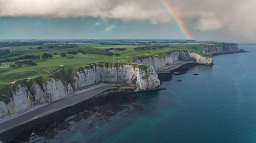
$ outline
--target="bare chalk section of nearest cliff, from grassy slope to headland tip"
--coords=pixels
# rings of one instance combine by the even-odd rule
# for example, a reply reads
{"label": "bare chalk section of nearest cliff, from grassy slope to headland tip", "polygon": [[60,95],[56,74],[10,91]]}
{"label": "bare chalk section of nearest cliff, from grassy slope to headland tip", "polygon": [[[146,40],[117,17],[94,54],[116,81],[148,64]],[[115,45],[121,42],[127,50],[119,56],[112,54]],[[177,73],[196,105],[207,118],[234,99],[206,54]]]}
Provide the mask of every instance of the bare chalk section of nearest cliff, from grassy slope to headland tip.
{"label": "bare chalk section of nearest cliff, from grassy slope to headland tip", "polygon": [[83,68],[77,72],[77,75],[74,83],[76,89],[99,82],[132,85],[136,86],[137,90],[151,90],[160,85],[157,74],[152,67],[142,70],[131,64],[118,67]]}

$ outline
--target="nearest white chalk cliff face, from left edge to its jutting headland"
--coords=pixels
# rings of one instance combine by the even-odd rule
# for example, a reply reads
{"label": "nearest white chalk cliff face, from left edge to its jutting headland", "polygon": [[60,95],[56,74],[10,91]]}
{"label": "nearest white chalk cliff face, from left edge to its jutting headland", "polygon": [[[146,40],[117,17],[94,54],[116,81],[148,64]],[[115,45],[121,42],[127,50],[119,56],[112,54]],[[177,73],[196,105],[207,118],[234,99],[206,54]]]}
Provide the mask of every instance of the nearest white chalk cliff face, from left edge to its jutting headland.
{"label": "nearest white chalk cliff face, from left edge to its jutting headland", "polygon": [[16,115],[37,104],[57,101],[77,89],[99,82],[133,85],[138,91],[154,90],[160,85],[153,67],[137,64],[95,64],[72,72],[63,68],[44,78],[16,81],[2,89],[0,119]]}

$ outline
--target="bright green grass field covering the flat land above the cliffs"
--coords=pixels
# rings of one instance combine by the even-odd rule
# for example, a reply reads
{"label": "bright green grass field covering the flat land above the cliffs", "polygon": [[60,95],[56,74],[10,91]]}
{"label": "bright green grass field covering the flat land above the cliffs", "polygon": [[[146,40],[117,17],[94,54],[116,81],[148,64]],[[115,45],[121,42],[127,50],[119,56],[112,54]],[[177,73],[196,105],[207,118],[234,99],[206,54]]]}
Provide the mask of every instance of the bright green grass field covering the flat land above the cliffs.
{"label": "bright green grass field covering the flat land above the cliffs", "polygon": [[[35,60],[36,66],[25,66],[18,68],[9,68],[9,65],[15,65],[14,62],[1,63],[0,65],[0,84],[5,84],[13,82],[19,79],[34,78],[40,75],[46,75],[51,71],[60,68],[60,67],[81,67],[91,63],[97,62],[121,62],[121,63],[131,63],[132,58],[136,56],[143,55],[154,55],[163,57],[165,52],[169,50],[189,50],[193,52],[202,51],[204,49],[204,44],[194,44],[196,42],[189,43],[154,43],[152,45],[170,45],[170,47],[157,48],[151,50],[140,50],[135,51],[136,47],[146,47],[145,45],[100,45],[100,44],[78,44],[79,47],[76,48],[67,48],[67,49],[49,49],[47,51],[37,51],[35,46],[17,46],[12,47],[13,51],[22,51],[22,55],[17,55],[10,57],[9,59],[15,59],[19,56],[24,55],[39,55],[41,56],[44,53],[49,53],[53,56],[51,59],[46,60]],[[197,42],[203,43],[203,42]],[[206,43],[207,44],[207,43]],[[83,49],[93,49],[93,50],[104,50],[110,49],[110,52],[118,53],[120,56],[116,55],[100,55],[100,54],[91,54],[91,53],[77,53],[77,54],[67,54],[66,57],[61,57],[60,53],[67,53],[68,51],[78,51]],[[126,48],[126,50],[120,51],[115,50],[116,48]],[[26,53],[29,52],[29,53]],[[67,57],[72,57],[72,59],[67,59]],[[0,59],[4,60],[4,59]],[[28,59],[27,59],[28,60]],[[24,60],[19,60],[24,61]]]}

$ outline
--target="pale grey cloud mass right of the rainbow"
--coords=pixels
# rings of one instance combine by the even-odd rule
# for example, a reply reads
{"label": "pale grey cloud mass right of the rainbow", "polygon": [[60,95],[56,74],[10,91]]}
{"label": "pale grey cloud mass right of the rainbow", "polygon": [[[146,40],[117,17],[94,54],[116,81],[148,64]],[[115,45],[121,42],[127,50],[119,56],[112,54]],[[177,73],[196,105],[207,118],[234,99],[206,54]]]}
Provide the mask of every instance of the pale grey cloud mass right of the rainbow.
{"label": "pale grey cloud mass right of the rainbow", "polygon": [[222,30],[238,38],[256,39],[255,0],[173,0],[172,4],[183,19],[196,21],[196,30]]}

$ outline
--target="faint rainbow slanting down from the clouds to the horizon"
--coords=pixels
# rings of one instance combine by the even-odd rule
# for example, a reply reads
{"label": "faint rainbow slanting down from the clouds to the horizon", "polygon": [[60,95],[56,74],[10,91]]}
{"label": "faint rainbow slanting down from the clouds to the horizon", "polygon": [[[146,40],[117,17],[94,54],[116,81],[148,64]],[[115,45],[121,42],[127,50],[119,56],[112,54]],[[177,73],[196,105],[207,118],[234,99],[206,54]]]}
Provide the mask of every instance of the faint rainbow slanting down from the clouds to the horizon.
{"label": "faint rainbow slanting down from the clouds to the horizon", "polygon": [[186,39],[193,39],[192,36],[190,35],[189,31],[187,30],[186,25],[181,20],[181,18],[174,12],[174,9],[170,5],[170,3],[167,2],[166,0],[159,0],[159,1],[163,5],[163,7],[167,10],[167,12],[170,14],[170,16],[174,19],[175,23],[180,28],[180,31],[182,32],[184,37]]}

